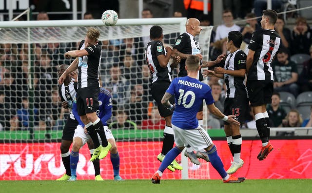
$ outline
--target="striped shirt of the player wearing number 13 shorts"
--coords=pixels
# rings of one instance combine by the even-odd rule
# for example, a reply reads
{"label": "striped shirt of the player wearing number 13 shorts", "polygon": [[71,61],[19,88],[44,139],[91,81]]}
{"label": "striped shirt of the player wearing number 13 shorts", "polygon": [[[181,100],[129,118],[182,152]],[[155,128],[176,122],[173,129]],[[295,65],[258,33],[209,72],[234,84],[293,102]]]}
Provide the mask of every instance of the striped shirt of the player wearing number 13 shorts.
{"label": "striped shirt of the player wearing number 13 shorts", "polygon": [[[242,50],[236,50],[228,54],[225,59],[224,69],[226,70],[240,70],[246,69],[246,54]],[[247,89],[244,83],[245,77],[234,77],[224,74],[224,81],[227,87],[226,97],[247,97]]]}

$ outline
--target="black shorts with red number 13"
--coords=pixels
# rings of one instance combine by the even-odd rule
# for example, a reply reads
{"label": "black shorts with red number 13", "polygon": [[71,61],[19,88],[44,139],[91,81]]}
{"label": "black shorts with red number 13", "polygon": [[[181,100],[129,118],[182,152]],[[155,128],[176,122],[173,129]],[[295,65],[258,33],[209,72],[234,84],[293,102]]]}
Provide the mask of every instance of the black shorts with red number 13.
{"label": "black shorts with red number 13", "polygon": [[[245,120],[246,111],[248,109],[248,98],[235,97],[235,98],[226,98],[224,101],[224,115],[234,115],[240,124],[243,124]],[[225,125],[229,125],[228,122],[224,121]]]}

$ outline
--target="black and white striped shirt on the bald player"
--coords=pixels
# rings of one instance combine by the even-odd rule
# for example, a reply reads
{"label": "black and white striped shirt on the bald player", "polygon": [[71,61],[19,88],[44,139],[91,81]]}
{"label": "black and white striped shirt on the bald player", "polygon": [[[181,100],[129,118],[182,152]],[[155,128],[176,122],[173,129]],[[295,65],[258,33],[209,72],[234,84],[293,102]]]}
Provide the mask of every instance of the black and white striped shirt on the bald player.
{"label": "black and white striped shirt on the bald player", "polygon": [[[195,37],[192,34],[187,32],[177,37],[174,48],[176,48],[179,52],[183,54],[191,54],[191,55],[201,54],[199,43],[195,40]],[[181,59],[180,61],[180,72],[178,75],[179,77],[187,76],[187,71],[185,70],[185,60],[186,59]],[[203,80],[203,76],[200,71],[198,74],[198,79],[200,81]]]}

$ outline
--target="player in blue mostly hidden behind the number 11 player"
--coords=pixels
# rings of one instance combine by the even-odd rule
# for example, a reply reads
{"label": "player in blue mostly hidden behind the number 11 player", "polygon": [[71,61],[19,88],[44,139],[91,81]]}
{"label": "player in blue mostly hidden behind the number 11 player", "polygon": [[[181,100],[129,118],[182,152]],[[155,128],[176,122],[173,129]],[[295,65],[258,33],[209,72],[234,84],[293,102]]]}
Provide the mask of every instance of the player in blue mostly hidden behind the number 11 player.
{"label": "player in blue mostly hidden behind the number 11 player", "polygon": [[[96,113],[98,117],[101,119],[101,122],[104,126],[104,131],[105,131],[107,141],[112,144],[112,148],[110,149],[110,154],[111,154],[111,162],[112,162],[113,170],[114,170],[114,180],[121,181],[123,179],[119,175],[120,158],[119,158],[119,153],[117,150],[116,141],[107,126],[107,120],[112,116],[112,96],[110,92],[104,88],[101,88],[98,94],[98,101],[99,101],[99,108]],[[70,167],[71,167],[72,176],[70,177],[68,181],[77,180],[76,169],[77,169],[77,164],[78,164],[78,159],[79,159],[79,149],[88,140],[91,140],[90,135],[85,133],[86,130],[84,130],[85,128],[84,124],[82,123],[82,121],[80,120],[78,116],[76,103],[73,104],[73,114],[75,118],[78,120],[79,125],[77,126],[77,129],[75,130],[75,134],[73,137],[73,147],[72,147],[72,151],[70,154]],[[99,138],[99,141],[100,141],[100,138]],[[98,158],[96,160],[98,160]],[[95,175],[96,175],[96,180],[98,181],[103,180],[99,173]]]}

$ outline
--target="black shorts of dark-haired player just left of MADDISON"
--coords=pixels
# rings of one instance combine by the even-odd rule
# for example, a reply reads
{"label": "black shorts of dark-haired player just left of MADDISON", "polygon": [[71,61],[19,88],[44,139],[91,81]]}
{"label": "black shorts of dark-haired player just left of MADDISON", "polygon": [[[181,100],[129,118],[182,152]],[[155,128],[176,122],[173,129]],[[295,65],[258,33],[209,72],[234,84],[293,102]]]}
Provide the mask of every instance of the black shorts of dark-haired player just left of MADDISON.
{"label": "black shorts of dark-haired player just left of MADDISON", "polygon": [[[156,81],[151,85],[152,97],[157,103],[157,108],[160,116],[166,117],[173,114],[172,111],[167,109],[163,104],[161,104],[161,99],[169,88],[170,82],[167,81]],[[175,103],[175,97],[169,99],[171,104]]]}

